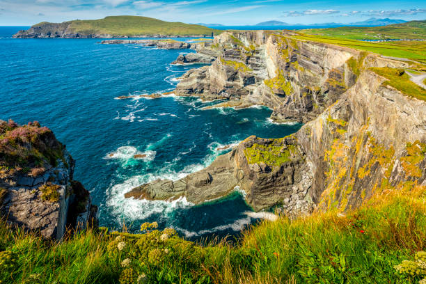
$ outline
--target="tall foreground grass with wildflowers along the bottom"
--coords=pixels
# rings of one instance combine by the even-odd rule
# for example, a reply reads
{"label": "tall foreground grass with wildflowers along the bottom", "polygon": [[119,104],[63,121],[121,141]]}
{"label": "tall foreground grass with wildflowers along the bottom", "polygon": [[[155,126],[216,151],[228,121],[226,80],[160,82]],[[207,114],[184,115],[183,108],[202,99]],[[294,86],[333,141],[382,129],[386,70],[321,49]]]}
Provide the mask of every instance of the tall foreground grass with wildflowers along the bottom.
{"label": "tall foreground grass with wildflowers along the bottom", "polygon": [[1,221],[0,281],[417,283],[394,267],[426,248],[425,201],[424,186],[389,191],[345,215],[263,221],[235,244],[195,244],[156,223],[138,235],[101,228],[51,242]]}

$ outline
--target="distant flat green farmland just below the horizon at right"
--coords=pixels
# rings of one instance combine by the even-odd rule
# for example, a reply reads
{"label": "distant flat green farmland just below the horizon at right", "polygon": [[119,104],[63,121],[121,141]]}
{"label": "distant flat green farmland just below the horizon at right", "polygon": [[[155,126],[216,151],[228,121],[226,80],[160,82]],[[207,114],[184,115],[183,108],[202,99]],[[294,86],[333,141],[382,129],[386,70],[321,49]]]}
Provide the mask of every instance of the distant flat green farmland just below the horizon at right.
{"label": "distant flat green farmland just below the horizon at right", "polygon": [[352,40],[426,40],[426,20],[390,24],[388,26],[342,26],[329,29],[306,29],[301,32],[334,38],[348,38]]}

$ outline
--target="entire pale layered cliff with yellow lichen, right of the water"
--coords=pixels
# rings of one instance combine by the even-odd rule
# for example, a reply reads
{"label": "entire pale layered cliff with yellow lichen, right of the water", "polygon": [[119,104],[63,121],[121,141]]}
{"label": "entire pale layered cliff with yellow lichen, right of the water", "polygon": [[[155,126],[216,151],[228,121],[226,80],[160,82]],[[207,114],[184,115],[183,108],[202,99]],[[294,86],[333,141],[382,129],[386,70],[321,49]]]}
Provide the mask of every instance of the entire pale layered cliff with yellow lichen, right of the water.
{"label": "entire pale layered cliff with yellow lichen, right of the water", "polygon": [[248,137],[203,171],[143,184],[127,197],[201,203],[239,186],[255,210],[279,205],[297,215],[426,185],[426,102],[373,71],[407,63],[290,32],[226,32],[210,49],[216,60],[184,74],[176,95],[226,100],[217,107],[263,104],[272,119],[305,125],[283,139]]}

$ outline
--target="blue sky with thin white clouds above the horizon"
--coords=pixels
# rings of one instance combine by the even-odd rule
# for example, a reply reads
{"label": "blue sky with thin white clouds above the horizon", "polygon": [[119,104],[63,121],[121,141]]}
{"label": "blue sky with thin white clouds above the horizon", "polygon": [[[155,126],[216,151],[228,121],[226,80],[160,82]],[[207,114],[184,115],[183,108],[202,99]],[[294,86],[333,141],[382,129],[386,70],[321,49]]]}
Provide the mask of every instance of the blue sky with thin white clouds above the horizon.
{"label": "blue sky with thin white clouds above the horizon", "polygon": [[426,19],[426,0],[0,0],[0,26],[140,15],[169,22],[251,25],[350,23],[370,17]]}

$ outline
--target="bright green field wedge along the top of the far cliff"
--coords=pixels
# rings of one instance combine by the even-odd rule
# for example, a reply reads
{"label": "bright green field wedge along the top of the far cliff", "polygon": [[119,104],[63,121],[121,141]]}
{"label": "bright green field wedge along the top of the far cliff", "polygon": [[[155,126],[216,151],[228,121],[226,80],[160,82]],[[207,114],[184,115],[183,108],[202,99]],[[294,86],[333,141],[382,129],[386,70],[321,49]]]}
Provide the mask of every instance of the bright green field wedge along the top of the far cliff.
{"label": "bright green field wedge along the top of the far cliff", "polygon": [[324,42],[332,45],[340,45],[366,52],[374,52],[384,56],[398,58],[408,58],[413,61],[426,63],[426,42],[363,42],[360,40],[351,40],[345,38],[331,38],[329,36],[317,36],[301,33],[294,36],[299,40],[311,40],[315,42]]}

